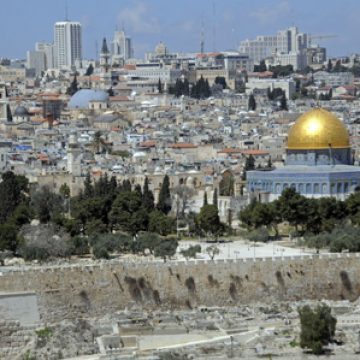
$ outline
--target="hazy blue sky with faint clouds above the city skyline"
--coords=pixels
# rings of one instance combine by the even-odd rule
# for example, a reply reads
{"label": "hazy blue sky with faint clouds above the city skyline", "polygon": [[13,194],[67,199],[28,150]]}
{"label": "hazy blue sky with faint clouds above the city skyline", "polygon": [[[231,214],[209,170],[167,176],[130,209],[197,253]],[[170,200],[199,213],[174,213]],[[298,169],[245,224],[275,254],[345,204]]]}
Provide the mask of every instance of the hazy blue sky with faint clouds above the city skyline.
{"label": "hazy blue sky with faint clouds above the city skyline", "polygon": [[[0,57],[25,58],[36,41],[52,41],[54,22],[65,18],[66,0],[0,2]],[[100,47],[122,26],[137,56],[160,40],[170,51],[199,51],[202,22],[205,51],[234,49],[240,40],[296,25],[337,35],[322,42],[330,55],[360,52],[359,0],[68,0],[68,12],[83,25],[86,58],[95,57],[96,41]]]}

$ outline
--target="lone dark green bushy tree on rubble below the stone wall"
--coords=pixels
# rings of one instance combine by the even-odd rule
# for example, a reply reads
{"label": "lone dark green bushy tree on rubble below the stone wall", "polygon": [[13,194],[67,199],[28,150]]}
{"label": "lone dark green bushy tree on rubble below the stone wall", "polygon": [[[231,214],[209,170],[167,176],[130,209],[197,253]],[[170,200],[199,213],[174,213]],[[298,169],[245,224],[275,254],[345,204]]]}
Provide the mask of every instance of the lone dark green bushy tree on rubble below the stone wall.
{"label": "lone dark green bushy tree on rubble below the stone wall", "polygon": [[331,315],[331,308],[319,305],[311,309],[306,305],[299,310],[300,346],[310,349],[315,355],[324,352],[323,347],[333,341],[336,329],[336,318]]}

